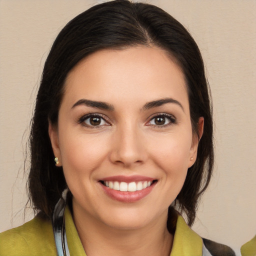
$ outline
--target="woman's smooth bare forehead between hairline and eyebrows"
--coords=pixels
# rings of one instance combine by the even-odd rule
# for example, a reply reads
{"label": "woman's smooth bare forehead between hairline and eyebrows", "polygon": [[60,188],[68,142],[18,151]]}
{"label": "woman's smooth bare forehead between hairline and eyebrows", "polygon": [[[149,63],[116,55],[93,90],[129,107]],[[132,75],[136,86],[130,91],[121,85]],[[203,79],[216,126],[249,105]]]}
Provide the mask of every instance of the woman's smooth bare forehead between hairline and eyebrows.
{"label": "woman's smooth bare forehead between hairline and eyebrows", "polygon": [[99,50],[67,75],[63,100],[150,101],[174,97],[188,104],[181,68],[162,49],[130,47]]}

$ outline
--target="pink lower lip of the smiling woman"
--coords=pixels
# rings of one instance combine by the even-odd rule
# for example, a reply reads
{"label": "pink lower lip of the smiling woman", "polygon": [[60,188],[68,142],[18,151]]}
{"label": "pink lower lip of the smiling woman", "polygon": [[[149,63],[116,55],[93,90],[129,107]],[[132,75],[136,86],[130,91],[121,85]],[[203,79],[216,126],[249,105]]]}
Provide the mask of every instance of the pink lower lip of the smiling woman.
{"label": "pink lower lip of the smiling woman", "polygon": [[117,201],[121,202],[136,202],[146,195],[148,195],[153,187],[155,186],[156,182],[153,182],[150,186],[138,190],[138,191],[133,191],[133,192],[128,192],[128,191],[119,191],[119,190],[114,190],[111,189],[105,185],[103,185],[101,182],[99,182],[105,193],[111,197],[112,199],[115,199]]}

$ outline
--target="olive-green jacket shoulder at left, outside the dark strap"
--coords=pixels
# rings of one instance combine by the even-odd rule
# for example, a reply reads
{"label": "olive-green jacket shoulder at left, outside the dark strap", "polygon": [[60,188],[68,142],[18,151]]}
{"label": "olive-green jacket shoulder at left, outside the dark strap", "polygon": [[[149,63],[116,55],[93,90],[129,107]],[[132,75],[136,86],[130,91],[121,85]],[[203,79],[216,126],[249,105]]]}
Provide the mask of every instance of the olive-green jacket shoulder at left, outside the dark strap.
{"label": "olive-green jacket shoulder at left, outside the dark strap", "polygon": [[36,216],[0,233],[0,255],[56,255],[51,221]]}

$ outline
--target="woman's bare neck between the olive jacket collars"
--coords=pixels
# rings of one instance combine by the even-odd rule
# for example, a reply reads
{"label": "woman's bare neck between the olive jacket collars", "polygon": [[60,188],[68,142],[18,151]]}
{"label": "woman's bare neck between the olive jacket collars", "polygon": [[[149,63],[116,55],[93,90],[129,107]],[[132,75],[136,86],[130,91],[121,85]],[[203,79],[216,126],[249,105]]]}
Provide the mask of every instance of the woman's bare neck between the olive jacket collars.
{"label": "woman's bare neck between the olive jacket collars", "polygon": [[87,256],[169,256],[173,235],[166,227],[167,211],[146,226],[120,229],[73,208],[74,223]]}

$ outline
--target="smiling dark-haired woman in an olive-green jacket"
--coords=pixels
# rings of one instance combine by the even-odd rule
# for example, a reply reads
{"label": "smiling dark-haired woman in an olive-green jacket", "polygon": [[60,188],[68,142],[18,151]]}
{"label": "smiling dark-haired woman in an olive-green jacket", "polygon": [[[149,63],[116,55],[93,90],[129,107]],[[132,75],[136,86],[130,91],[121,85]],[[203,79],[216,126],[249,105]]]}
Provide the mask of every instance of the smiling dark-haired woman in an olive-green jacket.
{"label": "smiling dark-haired woman in an olive-green jacket", "polygon": [[61,30],[30,147],[37,215],[0,234],[0,255],[234,255],[189,228],[213,166],[210,98],[196,43],[160,8],[110,1]]}

